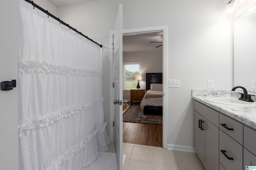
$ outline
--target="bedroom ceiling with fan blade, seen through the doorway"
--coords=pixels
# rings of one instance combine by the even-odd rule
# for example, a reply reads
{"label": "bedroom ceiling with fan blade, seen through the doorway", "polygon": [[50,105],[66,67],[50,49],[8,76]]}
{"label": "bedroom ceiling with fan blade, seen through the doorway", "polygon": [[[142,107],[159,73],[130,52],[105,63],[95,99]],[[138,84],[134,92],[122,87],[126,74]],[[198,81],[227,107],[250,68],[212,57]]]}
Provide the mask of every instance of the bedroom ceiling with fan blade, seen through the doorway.
{"label": "bedroom ceiling with fan blade, seen through the doorway", "polygon": [[123,52],[162,50],[162,46],[157,47],[162,43],[150,43],[152,41],[162,42],[162,32],[123,36]]}

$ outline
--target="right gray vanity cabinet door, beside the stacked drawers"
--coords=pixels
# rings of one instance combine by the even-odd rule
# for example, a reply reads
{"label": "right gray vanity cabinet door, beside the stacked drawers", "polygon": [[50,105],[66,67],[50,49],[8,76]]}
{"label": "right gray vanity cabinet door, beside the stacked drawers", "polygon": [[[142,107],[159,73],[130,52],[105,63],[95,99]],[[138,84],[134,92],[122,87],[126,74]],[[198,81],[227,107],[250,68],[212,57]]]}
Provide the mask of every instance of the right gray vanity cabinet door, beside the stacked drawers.
{"label": "right gray vanity cabinet door, beside the stacked drawers", "polygon": [[[204,121],[204,164],[209,170],[219,168],[219,128]],[[206,168],[206,169],[207,169]]]}

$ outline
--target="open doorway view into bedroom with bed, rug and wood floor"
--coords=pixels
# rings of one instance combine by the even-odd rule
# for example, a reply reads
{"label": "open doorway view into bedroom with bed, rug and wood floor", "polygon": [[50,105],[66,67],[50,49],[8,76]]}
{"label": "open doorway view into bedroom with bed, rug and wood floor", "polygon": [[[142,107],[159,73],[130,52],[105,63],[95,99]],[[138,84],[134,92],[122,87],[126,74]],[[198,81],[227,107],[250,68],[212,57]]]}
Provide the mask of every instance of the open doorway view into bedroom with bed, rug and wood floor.
{"label": "open doorway view into bedroom with bed, rug and wood floor", "polygon": [[[162,94],[160,90],[146,87],[152,74],[158,76],[161,80],[158,83],[162,84],[162,42],[162,31],[123,35],[123,100],[128,101],[123,104],[125,108],[128,106],[123,111],[124,143],[162,147],[162,98],[144,98],[145,92],[145,95]],[[134,80],[133,74],[139,74],[141,80]]]}

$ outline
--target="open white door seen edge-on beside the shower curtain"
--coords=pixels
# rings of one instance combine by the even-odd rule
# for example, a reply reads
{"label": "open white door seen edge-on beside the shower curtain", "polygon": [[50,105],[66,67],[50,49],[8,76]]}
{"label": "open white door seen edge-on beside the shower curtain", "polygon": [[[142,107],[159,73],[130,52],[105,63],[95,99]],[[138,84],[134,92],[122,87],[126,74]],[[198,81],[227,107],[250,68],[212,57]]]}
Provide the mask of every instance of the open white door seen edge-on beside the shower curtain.
{"label": "open white door seen edge-on beside the shower curtain", "polygon": [[114,141],[116,147],[116,160],[118,170],[123,167],[123,85],[122,85],[122,63],[123,63],[123,22],[122,4],[119,4],[116,17],[116,26],[113,35],[113,78],[114,78]]}

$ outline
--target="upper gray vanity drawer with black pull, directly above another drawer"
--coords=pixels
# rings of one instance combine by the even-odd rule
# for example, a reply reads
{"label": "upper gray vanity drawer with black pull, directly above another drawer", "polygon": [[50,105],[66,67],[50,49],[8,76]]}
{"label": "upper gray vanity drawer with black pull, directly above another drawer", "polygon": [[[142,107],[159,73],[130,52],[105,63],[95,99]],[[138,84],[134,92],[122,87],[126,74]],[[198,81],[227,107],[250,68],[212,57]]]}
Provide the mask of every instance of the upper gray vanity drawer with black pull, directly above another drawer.
{"label": "upper gray vanity drawer with black pull, directly above another drawer", "polygon": [[[230,119],[229,117],[220,114],[219,128],[235,139],[238,143],[243,145],[243,125]],[[233,130],[232,130],[233,129]]]}

